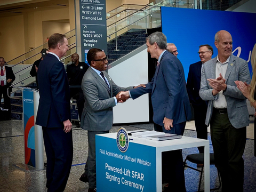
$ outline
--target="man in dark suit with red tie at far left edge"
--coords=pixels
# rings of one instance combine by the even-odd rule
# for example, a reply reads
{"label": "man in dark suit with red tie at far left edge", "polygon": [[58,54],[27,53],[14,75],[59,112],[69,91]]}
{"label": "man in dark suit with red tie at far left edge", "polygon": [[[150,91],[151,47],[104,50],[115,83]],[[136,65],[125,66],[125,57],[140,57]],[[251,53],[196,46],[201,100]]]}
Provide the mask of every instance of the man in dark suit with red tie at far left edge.
{"label": "man in dark suit with red tie at far left edge", "polygon": [[[2,95],[4,97],[4,108],[8,109],[5,119],[10,119],[11,117],[11,99],[8,97],[12,92],[12,88],[9,88],[12,85],[12,82],[15,80],[15,75],[13,74],[12,68],[4,65],[5,61],[3,57],[0,57],[0,99]],[[7,89],[9,90],[7,91]]]}

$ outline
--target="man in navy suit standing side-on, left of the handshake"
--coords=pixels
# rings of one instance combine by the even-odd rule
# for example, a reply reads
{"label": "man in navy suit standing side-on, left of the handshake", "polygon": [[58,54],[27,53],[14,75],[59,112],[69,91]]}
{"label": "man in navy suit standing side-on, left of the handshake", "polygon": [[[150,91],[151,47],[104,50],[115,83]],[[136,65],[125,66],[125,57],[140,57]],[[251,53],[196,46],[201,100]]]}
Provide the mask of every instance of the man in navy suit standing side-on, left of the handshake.
{"label": "man in navy suit standing side-on, left of the handshake", "polygon": [[70,95],[66,71],[60,58],[66,55],[65,35],[53,34],[48,41],[49,54],[38,68],[39,106],[36,124],[43,127],[47,156],[48,192],[63,191],[73,160],[70,122]]}

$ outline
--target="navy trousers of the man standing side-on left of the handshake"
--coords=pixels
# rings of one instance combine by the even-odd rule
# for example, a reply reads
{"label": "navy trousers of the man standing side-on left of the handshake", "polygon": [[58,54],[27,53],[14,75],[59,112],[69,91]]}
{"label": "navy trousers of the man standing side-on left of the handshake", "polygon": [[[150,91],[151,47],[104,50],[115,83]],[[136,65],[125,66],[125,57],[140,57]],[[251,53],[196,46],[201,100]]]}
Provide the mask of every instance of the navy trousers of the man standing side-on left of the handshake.
{"label": "navy trousers of the man standing side-on left of the handshake", "polygon": [[47,157],[47,191],[64,191],[73,161],[72,131],[65,133],[60,127],[43,127],[43,137]]}

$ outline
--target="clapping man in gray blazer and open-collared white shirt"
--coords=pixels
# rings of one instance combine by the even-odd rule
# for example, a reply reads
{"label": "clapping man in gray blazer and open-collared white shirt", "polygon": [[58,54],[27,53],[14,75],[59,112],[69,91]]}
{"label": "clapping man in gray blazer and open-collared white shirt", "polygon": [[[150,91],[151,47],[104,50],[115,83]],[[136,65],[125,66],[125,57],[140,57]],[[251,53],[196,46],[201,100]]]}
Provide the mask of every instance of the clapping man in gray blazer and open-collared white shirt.
{"label": "clapping man in gray blazer and open-collared white shirt", "polygon": [[235,81],[250,84],[248,63],[232,54],[230,33],[215,34],[218,55],[202,70],[200,97],[209,101],[205,124],[211,123],[215,166],[220,172],[222,191],[243,191],[246,126],[249,113],[246,98]]}

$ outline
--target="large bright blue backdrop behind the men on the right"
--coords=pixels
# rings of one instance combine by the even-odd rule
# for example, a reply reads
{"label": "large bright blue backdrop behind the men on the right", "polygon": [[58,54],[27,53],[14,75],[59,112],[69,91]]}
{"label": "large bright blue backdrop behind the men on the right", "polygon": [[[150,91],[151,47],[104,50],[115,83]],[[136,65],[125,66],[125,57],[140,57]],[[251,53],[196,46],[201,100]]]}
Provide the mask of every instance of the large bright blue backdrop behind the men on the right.
{"label": "large bright blue backdrop behind the men on the right", "polygon": [[[171,15],[171,19],[170,19]],[[213,57],[218,54],[214,45],[215,33],[227,30],[233,37],[234,55],[250,62],[251,51],[256,43],[256,14],[228,11],[180,9],[161,7],[162,31],[167,42],[174,43],[178,49],[187,79],[189,65],[200,61],[199,45],[213,47]]]}

